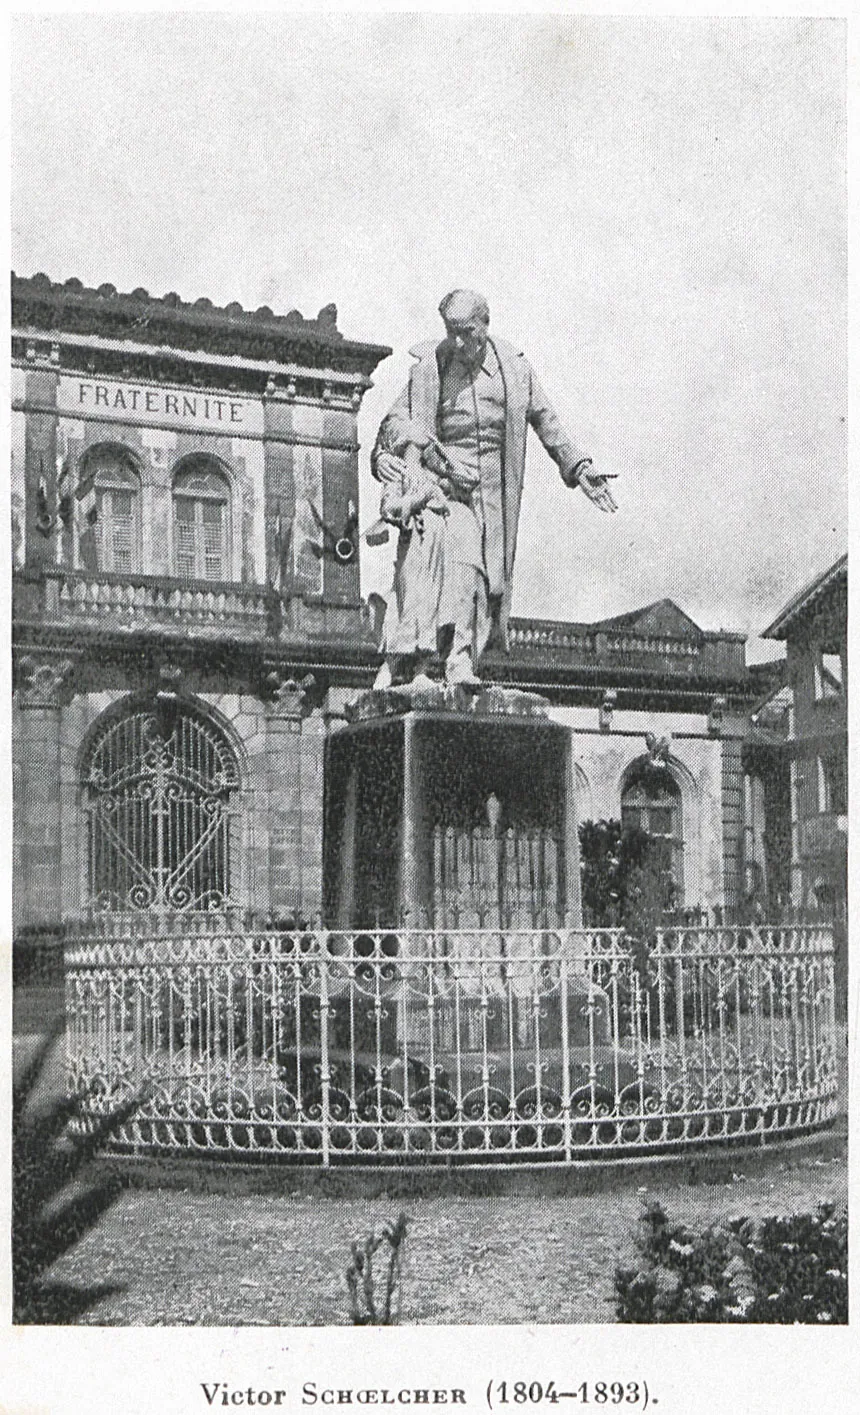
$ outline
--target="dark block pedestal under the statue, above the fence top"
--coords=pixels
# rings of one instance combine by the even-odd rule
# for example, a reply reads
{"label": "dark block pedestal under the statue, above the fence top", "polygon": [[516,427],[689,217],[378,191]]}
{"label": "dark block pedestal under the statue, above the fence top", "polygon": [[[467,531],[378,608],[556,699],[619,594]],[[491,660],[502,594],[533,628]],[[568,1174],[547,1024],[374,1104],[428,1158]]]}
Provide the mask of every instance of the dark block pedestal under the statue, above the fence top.
{"label": "dark block pedestal under the statue, above the fence top", "polygon": [[540,699],[371,693],[325,750],[330,928],[580,925],[571,739]]}

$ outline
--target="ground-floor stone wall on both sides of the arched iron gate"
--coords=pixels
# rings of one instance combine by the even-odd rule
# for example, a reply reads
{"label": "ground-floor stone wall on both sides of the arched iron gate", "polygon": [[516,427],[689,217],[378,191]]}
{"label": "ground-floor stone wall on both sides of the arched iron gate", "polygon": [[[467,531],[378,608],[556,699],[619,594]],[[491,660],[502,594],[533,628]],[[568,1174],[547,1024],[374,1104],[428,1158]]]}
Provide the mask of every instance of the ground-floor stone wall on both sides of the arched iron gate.
{"label": "ground-floor stone wall on both sides of the arched iron gate", "polygon": [[[65,669],[68,675],[69,668]],[[59,669],[55,668],[55,678]],[[263,700],[248,692],[194,692],[184,675],[180,699],[228,739],[239,764],[231,802],[239,822],[232,896],[242,908],[313,917],[322,897],[322,734],[303,692]],[[54,925],[88,903],[86,815],[82,770],[105,713],[150,702],[126,685],[66,693],[42,675],[14,706],[14,920],[16,928]],[[52,700],[51,700],[51,693]]]}

